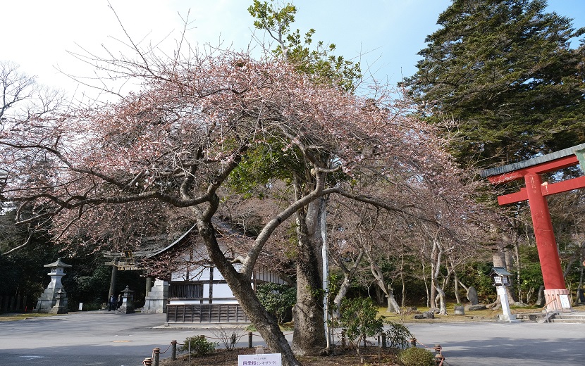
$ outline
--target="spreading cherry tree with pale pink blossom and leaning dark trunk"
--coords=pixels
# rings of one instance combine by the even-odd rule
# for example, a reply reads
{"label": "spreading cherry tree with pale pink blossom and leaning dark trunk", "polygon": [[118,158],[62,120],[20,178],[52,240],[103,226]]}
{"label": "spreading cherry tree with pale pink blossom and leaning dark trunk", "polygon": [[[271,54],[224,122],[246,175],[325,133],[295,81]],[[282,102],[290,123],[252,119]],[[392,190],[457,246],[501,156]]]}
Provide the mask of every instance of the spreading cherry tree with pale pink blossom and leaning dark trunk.
{"label": "spreading cherry tree with pale pink blossom and leaning dark trunk", "polygon": [[[328,195],[401,211],[412,205],[402,198],[414,187],[436,194],[458,187],[443,141],[407,117],[410,106],[385,87],[373,87],[365,99],[316,83],[278,59],[212,49],[178,50],[173,58],[137,46],[133,51],[137,58],[93,60],[98,72],[110,75],[101,82],[127,79],[140,85],[133,92],[3,122],[0,199],[33,213],[20,216],[21,224],[50,219],[56,236],[94,234],[84,232],[87,227],[103,234],[112,229],[103,225],[104,215],[116,222],[129,212],[145,218],[188,212],[210,260],[266,343],[283,353],[285,364],[298,365],[250,286],[272,234],[296,219],[300,248],[317,240],[311,225],[319,220],[312,216],[319,213],[319,198]],[[230,180],[257,166],[258,156],[264,157],[264,178],[293,172],[294,194],[245,246],[236,270],[214,220]],[[365,181],[369,185],[355,184]],[[140,220],[132,222],[140,229]],[[304,263],[313,260],[315,247],[299,251]],[[297,272],[307,288],[316,288],[315,267]],[[314,298],[307,301],[300,309],[319,316]]]}

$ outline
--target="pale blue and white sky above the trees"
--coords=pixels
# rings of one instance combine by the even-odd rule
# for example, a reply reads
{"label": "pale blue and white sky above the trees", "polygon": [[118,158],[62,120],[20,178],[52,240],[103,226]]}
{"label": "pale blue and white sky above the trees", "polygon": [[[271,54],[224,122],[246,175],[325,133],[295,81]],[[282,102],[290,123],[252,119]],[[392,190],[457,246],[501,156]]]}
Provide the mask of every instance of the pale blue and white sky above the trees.
{"label": "pale blue and white sky above the trees", "polygon": [[[194,22],[187,32],[192,44],[211,43],[245,49],[254,46],[252,0],[110,0],[133,39],[161,43],[171,51],[183,21]],[[401,75],[416,72],[417,52],[424,38],[438,29],[438,15],[450,0],[293,0],[298,8],[293,25],[301,32],[313,27],[315,40],[335,43],[338,54],[362,62],[378,80],[395,84]],[[549,0],[548,10],[574,18],[585,27],[585,0]],[[68,51],[81,48],[103,54],[102,45],[120,49],[123,31],[106,0],[20,0],[2,5],[0,60],[13,61],[39,82],[72,92],[75,84],[56,67],[74,75],[91,70]],[[170,35],[169,35],[170,34]],[[264,37],[256,31],[257,37]],[[574,43],[577,45],[577,42]]]}

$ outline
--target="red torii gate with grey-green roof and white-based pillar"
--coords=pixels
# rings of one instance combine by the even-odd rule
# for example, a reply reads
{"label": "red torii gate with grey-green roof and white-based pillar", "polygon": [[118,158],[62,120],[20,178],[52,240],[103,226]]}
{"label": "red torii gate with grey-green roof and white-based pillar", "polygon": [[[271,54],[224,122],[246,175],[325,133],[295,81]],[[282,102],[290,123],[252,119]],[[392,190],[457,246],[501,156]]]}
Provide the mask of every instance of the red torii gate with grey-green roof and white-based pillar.
{"label": "red torii gate with grey-green roof and white-based pillar", "polygon": [[526,182],[526,187],[521,188],[519,192],[498,196],[498,203],[507,205],[508,203],[528,200],[544,280],[546,310],[571,308],[569,291],[565,286],[565,278],[560,267],[560,258],[555,233],[553,232],[553,224],[550,221],[546,196],[584,188],[585,177],[548,184],[548,182],[542,182],[541,174],[577,164],[585,172],[585,144],[538,156],[520,163],[483,170],[480,173],[481,177],[487,177],[492,184],[502,184],[517,179],[524,179],[524,182]]}

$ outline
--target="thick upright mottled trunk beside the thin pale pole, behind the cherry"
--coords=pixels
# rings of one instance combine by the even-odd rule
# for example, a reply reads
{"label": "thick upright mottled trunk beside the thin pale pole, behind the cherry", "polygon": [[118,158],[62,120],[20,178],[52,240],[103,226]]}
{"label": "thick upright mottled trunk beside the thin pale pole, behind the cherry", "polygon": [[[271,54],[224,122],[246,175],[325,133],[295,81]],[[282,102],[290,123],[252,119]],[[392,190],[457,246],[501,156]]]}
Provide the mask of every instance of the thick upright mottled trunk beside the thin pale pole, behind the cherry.
{"label": "thick upright mottled trunk beside the thin pale pole, behind the cherry", "polygon": [[321,215],[326,208],[320,198],[297,213],[297,303],[293,312],[293,351],[297,355],[327,352],[323,309],[321,263]]}

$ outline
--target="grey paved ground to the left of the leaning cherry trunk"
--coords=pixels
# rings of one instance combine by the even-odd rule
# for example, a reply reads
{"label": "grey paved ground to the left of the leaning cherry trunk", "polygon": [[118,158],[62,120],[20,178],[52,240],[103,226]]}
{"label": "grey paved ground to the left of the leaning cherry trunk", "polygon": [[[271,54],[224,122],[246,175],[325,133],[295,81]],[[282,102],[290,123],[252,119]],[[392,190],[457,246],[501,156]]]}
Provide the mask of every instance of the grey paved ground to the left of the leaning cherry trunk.
{"label": "grey paved ground to the left of the leaning cherry trunk", "polygon": [[[212,335],[204,329],[157,327],[164,321],[164,314],[101,311],[1,322],[0,366],[140,366],[155,347],[162,352],[172,340]],[[169,350],[161,358],[170,356]]]}

